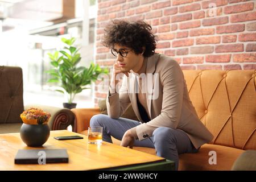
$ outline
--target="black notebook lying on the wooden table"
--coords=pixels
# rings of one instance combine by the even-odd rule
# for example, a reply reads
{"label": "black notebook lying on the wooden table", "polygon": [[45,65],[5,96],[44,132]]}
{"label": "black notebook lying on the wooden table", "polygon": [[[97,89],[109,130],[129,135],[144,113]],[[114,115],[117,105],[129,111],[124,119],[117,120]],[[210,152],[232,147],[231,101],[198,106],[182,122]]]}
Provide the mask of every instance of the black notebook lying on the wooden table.
{"label": "black notebook lying on the wooden table", "polygon": [[68,163],[66,149],[18,150],[15,164]]}

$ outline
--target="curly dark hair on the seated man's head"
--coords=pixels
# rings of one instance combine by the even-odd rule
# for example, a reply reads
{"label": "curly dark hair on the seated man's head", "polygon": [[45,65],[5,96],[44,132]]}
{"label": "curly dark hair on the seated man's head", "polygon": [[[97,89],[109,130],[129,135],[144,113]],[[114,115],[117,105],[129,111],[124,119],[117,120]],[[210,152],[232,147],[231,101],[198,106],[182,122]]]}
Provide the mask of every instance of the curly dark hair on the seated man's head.
{"label": "curly dark hair on the seated man's head", "polygon": [[156,48],[156,36],[151,32],[149,24],[142,20],[112,20],[112,24],[105,27],[102,44],[108,48],[114,48],[114,44],[126,46],[136,54],[143,52],[144,57],[154,55]]}

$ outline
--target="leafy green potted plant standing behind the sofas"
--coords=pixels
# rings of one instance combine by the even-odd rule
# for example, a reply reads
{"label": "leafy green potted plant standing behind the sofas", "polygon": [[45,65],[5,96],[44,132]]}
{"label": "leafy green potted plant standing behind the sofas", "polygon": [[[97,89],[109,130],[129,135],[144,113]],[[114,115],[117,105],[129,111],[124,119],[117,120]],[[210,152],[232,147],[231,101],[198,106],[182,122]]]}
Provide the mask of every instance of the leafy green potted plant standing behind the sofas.
{"label": "leafy green potted plant standing behind the sofas", "polygon": [[55,90],[68,97],[68,102],[63,103],[63,106],[68,109],[76,107],[73,100],[77,93],[89,89],[86,86],[90,85],[92,81],[96,81],[101,73],[109,73],[107,68],[101,69],[98,64],[94,63],[90,63],[89,68],[79,67],[81,56],[79,48],[73,46],[75,40],[75,38],[62,38],[61,41],[65,44],[65,47],[53,54],[48,53],[53,65],[53,69],[47,71],[52,76],[48,82],[59,84],[59,87]]}

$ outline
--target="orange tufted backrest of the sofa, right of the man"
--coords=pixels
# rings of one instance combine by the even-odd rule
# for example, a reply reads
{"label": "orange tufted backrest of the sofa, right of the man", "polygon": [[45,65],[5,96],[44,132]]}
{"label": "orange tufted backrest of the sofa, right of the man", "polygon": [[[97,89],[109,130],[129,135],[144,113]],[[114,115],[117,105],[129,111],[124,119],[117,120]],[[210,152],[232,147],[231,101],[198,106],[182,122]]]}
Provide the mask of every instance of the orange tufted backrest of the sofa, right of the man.
{"label": "orange tufted backrest of the sofa, right of the man", "polygon": [[189,97],[213,144],[256,150],[255,70],[183,71]]}

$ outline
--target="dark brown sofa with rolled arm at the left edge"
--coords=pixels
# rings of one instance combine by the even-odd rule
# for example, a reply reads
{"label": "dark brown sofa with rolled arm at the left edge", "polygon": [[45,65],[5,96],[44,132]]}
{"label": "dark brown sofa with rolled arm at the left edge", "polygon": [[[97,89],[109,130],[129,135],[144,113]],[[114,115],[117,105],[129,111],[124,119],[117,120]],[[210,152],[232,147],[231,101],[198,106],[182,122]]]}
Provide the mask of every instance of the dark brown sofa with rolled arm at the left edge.
{"label": "dark brown sofa with rolled arm at the left edge", "polygon": [[19,67],[0,66],[0,134],[18,133],[22,120],[20,114],[28,107],[40,107],[49,112],[48,125],[51,130],[65,130],[73,125],[74,114],[69,109],[43,106],[23,105],[23,75]]}

